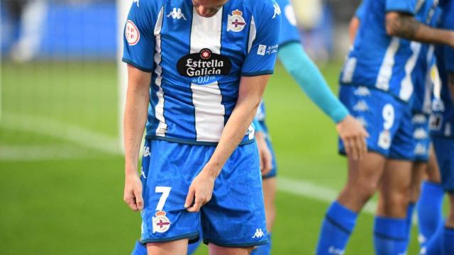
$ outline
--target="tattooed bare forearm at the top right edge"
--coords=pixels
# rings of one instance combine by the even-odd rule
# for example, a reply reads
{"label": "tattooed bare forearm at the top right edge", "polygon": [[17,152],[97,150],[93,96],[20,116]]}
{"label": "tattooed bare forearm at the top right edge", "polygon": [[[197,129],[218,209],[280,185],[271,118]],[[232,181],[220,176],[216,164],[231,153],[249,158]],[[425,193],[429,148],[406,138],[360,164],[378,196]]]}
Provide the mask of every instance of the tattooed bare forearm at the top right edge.
{"label": "tattooed bare forearm at the top right edge", "polygon": [[388,35],[406,38],[417,42],[445,44],[454,47],[454,31],[431,28],[408,13],[389,11],[386,14],[386,32]]}

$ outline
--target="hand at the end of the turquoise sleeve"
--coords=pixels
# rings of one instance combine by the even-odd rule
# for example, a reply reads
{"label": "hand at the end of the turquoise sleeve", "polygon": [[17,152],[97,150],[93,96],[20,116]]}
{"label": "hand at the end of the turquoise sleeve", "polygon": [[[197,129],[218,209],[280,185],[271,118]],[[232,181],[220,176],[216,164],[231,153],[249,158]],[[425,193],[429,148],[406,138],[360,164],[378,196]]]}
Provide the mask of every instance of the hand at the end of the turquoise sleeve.
{"label": "hand at the end of the turquoise sleeve", "polygon": [[361,160],[367,153],[366,138],[369,137],[361,123],[348,115],[336,125],[336,129],[347,155],[354,160]]}

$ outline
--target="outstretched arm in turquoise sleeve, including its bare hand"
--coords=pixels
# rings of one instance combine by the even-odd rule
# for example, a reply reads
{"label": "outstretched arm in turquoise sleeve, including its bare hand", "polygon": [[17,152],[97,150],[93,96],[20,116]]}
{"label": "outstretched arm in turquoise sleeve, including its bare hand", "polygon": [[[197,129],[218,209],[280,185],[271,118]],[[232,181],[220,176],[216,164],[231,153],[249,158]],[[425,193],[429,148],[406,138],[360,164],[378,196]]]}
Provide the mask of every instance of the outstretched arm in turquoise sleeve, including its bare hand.
{"label": "outstretched arm in turquoise sleeve, including its bare hand", "polygon": [[367,131],[334,96],[319,68],[306,55],[302,45],[299,42],[288,43],[279,49],[278,56],[301,89],[336,123],[338,134],[348,147],[347,154],[353,159],[362,159],[367,153]]}

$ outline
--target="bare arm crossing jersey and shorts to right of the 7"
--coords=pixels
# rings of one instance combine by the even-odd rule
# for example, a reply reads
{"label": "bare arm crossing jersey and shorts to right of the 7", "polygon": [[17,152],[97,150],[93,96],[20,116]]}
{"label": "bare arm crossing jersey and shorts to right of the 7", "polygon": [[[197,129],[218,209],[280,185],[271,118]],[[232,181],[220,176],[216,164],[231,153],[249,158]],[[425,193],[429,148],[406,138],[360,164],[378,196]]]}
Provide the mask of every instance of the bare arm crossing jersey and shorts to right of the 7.
{"label": "bare arm crossing jersey and shorts to right of the 7", "polygon": [[[221,173],[223,165],[238,147],[253,122],[257,108],[262,101],[263,91],[270,79],[270,75],[257,77],[241,77],[238,92],[238,101],[233,112],[223,129],[221,139],[211,159],[204,166],[204,169],[192,181],[187,195],[185,208],[189,212],[199,211],[202,205],[211,199],[214,181]],[[195,199],[195,201],[194,201]],[[189,208],[194,202],[194,205]]]}

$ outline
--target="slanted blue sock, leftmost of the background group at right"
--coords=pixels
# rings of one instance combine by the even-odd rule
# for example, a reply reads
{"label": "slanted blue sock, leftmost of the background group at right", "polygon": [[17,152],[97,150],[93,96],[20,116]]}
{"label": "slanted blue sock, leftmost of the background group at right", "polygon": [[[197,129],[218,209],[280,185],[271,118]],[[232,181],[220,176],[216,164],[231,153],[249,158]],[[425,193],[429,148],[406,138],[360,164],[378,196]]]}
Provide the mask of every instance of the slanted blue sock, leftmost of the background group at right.
{"label": "slanted blue sock, leftmost of the background group at right", "polygon": [[317,255],[342,254],[356,224],[358,213],[337,201],[331,204],[321,225]]}

